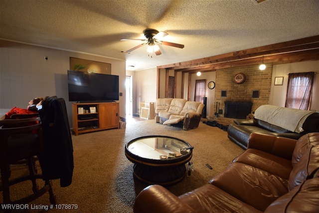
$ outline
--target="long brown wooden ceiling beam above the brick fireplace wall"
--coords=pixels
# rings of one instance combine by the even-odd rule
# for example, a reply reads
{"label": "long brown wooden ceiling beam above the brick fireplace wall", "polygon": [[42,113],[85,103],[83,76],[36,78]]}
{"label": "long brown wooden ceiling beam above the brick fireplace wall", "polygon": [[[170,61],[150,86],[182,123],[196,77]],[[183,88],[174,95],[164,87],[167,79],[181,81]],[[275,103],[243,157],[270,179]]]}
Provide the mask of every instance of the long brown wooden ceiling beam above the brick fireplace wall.
{"label": "long brown wooden ceiling beam above the brick fireplace wall", "polygon": [[[303,52],[311,52],[314,55],[306,55]],[[289,60],[283,57],[282,54],[296,54],[294,59]],[[261,58],[264,57],[265,63],[291,63],[305,60],[319,59],[319,35],[301,38],[293,41],[286,41],[246,50],[230,52],[226,54],[195,59],[174,64],[158,66],[158,68],[170,68],[178,71],[189,71],[197,69],[214,69],[215,67],[234,67],[238,65],[251,65],[261,63]],[[300,57],[300,58],[299,58]],[[281,61],[280,61],[281,60]],[[217,65],[218,64],[218,65]],[[223,64],[223,65],[220,65]],[[227,64],[227,65],[225,65]]]}

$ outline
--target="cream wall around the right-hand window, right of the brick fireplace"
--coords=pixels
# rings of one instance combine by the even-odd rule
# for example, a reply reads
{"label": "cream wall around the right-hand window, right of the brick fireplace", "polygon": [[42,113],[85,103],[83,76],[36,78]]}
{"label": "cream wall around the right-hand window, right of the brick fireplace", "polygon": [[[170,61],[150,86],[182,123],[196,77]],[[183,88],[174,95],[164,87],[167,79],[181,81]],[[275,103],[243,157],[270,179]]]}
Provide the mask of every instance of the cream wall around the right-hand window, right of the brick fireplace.
{"label": "cream wall around the right-hand window, right of the brick fireplace", "polygon": [[[319,61],[305,61],[274,65],[269,104],[285,107],[288,87],[288,74],[297,72],[317,72],[314,79],[311,110],[319,111]],[[281,76],[284,77],[283,85],[274,85],[275,77]]]}

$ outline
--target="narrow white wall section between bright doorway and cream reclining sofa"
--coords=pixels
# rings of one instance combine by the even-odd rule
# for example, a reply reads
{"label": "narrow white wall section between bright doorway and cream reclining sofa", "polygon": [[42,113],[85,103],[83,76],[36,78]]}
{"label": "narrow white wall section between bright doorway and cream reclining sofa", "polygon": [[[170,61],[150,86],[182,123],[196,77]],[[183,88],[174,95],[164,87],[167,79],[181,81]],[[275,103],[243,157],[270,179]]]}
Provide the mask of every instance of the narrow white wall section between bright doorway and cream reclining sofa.
{"label": "narrow white wall section between bright doorway and cream reclining sofa", "polygon": [[145,69],[136,72],[136,97],[135,104],[139,114],[140,101],[155,102],[157,91],[157,68]]}

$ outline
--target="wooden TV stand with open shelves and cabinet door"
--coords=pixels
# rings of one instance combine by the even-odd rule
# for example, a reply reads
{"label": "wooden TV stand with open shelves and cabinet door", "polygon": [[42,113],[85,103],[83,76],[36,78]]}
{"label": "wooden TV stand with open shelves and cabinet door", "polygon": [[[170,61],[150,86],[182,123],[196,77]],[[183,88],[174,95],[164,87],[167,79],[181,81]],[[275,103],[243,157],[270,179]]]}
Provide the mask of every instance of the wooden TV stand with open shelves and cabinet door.
{"label": "wooden TV stand with open shelves and cabinet door", "polygon": [[72,123],[75,135],[119,128],[119,103],[72,103]]}

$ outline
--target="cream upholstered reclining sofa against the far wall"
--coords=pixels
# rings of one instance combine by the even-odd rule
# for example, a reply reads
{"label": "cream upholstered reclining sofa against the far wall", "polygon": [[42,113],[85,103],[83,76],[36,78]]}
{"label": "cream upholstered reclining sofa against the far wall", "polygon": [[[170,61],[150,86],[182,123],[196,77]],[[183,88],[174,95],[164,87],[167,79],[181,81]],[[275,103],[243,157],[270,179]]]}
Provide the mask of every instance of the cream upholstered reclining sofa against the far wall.
{"label": "cream upholstered reclining sofa against the far wall", "polygon": [[163,125],[182,125],[184,130],[198,127],[204,104],[181,98],[158,98],[155,120]]}

